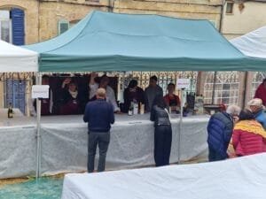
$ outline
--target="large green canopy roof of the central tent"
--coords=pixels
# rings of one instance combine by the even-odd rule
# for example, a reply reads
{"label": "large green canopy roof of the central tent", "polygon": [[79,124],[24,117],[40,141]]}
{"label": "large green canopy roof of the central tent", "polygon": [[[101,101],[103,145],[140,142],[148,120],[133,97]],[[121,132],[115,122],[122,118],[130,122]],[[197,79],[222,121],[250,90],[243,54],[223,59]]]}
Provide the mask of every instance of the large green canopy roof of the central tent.
{"label": "large green canopy roof of the central tent", "polygon": [[46,42],[26,46],[40,53],[41,72],[262,71],[208,20],[92,11]]}

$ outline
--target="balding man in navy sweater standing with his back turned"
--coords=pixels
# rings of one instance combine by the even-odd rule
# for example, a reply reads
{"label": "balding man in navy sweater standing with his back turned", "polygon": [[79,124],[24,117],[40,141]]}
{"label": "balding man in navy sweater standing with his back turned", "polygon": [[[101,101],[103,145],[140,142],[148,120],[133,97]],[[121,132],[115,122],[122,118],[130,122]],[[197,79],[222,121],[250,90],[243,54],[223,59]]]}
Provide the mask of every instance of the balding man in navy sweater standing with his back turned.
{"label": "balding man in navy sweater standing with his back turned", "polygon": [[99,149],[98,172],[105,171],[110,128],[114,123],[113,105],[106,102],[106,89],[98,88],[97,100],[87,103],[83,120],[88,122],[88,172],[94,171],[96,149]]}

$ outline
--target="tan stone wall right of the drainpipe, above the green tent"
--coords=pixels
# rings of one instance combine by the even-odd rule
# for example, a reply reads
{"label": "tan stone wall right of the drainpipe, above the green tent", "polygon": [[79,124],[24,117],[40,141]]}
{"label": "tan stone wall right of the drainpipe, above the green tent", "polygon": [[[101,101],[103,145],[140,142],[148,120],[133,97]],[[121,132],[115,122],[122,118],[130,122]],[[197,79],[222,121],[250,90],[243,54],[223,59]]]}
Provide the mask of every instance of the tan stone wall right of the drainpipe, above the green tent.
{"label": "tan stone wall right of the drainpipe, above the green tent", "polygon": [[221,0],[116,0],[114,12],[159,14],[183,19],[209,19],[219,29]]}

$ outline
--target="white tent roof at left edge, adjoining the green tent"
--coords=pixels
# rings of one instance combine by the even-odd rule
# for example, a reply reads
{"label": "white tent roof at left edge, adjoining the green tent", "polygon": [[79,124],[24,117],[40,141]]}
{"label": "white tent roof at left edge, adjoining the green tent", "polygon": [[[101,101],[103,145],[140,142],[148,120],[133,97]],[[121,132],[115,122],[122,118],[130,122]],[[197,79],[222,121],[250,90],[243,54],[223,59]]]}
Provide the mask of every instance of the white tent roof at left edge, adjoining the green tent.
{"label": "white tent roof at left edge, adjoining the green tent", "polygon": [[38,53],[0,40],[0,73],[38,72]]}

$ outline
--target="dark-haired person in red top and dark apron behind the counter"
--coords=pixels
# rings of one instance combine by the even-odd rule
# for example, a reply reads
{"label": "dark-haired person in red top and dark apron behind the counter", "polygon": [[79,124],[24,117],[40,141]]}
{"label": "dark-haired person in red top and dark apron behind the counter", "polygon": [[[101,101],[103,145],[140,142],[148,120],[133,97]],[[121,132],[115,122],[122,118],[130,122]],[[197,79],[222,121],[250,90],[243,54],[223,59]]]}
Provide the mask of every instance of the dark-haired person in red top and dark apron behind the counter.
{"label": "dark-haired person in red top and dark apron behind the counter", "polygon": [[171,111],[177,111],[178,107],[180,107],[180,99],[179,96],[176,96],[175,93],[175,84],[168,84],[168,95],[164,96],[164,99],[167,105],[171,108]]}

